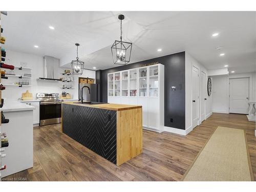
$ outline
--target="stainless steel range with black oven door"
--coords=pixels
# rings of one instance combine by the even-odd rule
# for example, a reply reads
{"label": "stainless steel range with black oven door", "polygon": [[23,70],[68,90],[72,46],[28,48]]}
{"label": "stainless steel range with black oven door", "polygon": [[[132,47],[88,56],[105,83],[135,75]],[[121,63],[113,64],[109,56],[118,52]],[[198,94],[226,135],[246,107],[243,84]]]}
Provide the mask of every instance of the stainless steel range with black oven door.
{"label": "stainless steel range with black oven door", "polygon": [[40,100],[40,123],[48,125],[61,123],[61,102],[58,93],[37,93],[36,99]]}

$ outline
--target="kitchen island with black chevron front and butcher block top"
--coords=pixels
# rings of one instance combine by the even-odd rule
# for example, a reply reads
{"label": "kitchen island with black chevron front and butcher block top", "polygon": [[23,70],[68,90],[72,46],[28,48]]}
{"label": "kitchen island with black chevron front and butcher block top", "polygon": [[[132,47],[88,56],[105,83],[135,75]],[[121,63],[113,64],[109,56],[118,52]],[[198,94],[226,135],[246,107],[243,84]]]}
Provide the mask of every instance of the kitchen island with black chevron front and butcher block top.
{"label": "kitchen island with black chevron front and butcher block top", "polygon": [[63,102],[62,132],[121,165],[142,153],[142,106]]}

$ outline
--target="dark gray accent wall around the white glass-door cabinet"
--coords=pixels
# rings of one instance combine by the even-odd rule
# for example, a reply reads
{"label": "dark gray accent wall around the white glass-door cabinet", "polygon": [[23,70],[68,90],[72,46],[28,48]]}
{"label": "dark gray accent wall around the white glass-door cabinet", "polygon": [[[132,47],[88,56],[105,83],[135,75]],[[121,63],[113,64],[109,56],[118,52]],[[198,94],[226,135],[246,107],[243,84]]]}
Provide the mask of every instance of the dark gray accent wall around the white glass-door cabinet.
{"label": "dark gray accent wall around the white glass-door cabinet", "polygon": [[[139,68],[152,62],[164,65],[164,125],[185,130],[185,52],[102,70],[102,102],[108,101],[108,73]],[[176,91],[172,91],[172,86],[177,88]]]}

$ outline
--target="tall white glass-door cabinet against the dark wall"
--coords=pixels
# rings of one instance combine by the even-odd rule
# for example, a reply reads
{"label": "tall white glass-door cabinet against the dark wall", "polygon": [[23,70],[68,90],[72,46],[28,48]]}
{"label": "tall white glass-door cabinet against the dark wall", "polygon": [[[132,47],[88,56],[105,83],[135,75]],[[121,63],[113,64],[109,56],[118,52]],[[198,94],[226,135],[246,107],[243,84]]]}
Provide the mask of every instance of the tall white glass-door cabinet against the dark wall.
{"label": "tall white glass-door cabinet against the dark wall", "polygon": [[108,74],[108,102],[142,105],[144,129],[164,130],[164,65]]}

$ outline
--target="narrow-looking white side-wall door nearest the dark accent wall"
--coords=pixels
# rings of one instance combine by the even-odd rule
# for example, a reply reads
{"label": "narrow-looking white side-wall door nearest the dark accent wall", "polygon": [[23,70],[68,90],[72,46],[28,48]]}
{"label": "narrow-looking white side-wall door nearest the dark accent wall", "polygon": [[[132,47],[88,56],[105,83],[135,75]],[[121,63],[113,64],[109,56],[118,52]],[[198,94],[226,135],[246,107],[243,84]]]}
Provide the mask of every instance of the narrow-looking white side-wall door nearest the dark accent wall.
{"label": "narrow-looking white side-wall door nearest the dark accent wall", "polygon": [[193,129],[198,125],[198,78],[199,78],[199,71],[198,68],[192,68],[192,126]]}

